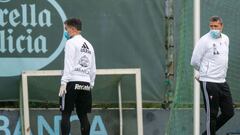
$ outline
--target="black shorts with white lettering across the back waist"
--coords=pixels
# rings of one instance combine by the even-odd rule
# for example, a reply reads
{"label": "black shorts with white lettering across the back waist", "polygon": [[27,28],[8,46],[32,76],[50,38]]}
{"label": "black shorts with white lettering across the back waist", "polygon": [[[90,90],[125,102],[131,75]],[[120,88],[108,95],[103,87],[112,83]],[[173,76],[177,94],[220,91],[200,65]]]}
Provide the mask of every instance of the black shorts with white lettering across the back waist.
{"label": "black shorts with white lettering across the back waist", "polygon": [[77,113],[90,113],[92,110],[92,93],[87,82],[68,82],[67,93],[60,97],[60,110],[71,113],[76,107]]}

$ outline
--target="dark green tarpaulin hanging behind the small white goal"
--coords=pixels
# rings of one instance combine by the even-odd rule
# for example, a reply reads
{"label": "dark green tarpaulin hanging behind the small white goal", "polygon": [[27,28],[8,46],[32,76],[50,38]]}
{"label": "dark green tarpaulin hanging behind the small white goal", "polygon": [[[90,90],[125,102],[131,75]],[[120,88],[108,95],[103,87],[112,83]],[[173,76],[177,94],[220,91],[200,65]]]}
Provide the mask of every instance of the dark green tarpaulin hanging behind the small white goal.
{"label": "dark green tarpaulin hanging behind the small white goal", "polygon": [[[51,0],[50,0],[51,1]],[[142,95],[145,102],[161,102],[164,97],[164,72],[165,72],[165,23],[164,1],[159,0],[59,0],[56,1],[65,12],[67,18],[78,17],[82,19],[82,35],[88,39],[95,48],[97,68],[141,68],[142,70]],[[59,45],[63,33],[63,22],[59,13],[47,0],[30,1],[19,0],[0,3],[0,9],[9,12],[17,9],[22,15],[22,5],[25,4],[30,12],[30,5],[34,4],[36,14],[47,9],[51,13],[50,27],[23,27],[19,24],[13,27],[8,24],[0,26],[0,30],[7,32],[13,29],[13,36],[32,29],[35,35],[43,34],[47,38],[48,53],[52,53]],[[5,18],[10,15],[5,15]],[[28,14],[30,19],[31,14]],[[15,21],[21,22],[21,17]],[[37,16],[37,20],[38,20]],[[45,19],[45,18],[43,18]],[[34,36],[34,35],[33,35]],[[16,52],[17,53],[17,52]],[[46,54],[2,53],[2,57],[48,57]],[[36,59],[37,61],[37,59]],[[21,61],[19,61],[21,65]],[[16,67],[18,68],[18,67]],[[63,51],[47,66],[40,70],[63,69]],[[107,94],[116,91],[116,81],[121,78],[112,76],[111,81],[106,77],[97,77],[94,98],[96,101],[105,99],[114,101],[117,97]],[[103,77],[104,78],[104,77]],[[134,78],[125,81],[123,85],[126,101],[135,100]],[[31,100],[56,100],[60,78],[50,79],[52,82],[30,79]],[[46,80],[46,79],[44,79]],[[123,79],[124,80],[124,79]],[[0,77],[0,100],[17,100],[19,97],[19,76]],[[104,91],[104,92],[101,92]],[[127,92],[129,91],[129,92]],[[47,94],[46,94],[47,92]],[[115,93],[116,95],[117,93]],[[130,96],[128,96],[130,94]],[[123,95],[123,97],[124,97]],[[104,97],[104,98],[103,98]]]}

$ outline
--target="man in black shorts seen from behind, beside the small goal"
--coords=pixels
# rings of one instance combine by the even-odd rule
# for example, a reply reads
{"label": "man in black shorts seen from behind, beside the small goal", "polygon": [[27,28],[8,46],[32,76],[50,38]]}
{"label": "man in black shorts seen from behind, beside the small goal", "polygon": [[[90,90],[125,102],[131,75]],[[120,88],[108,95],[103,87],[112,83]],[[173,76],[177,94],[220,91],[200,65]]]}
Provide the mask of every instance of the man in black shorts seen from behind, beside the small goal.
{"label": "man in black shorts seen from behind, beside the small goal", "polygon": [[82,135],[89,135],[87,113],[92,109],[91,89],[96,76],[95,53],[92,45],[80,35],[82,23],[72,18],[64,22],[65,45],[64,70],[59,90],[62,112],[62,135],[70,133],[70,116],[76,106]]}

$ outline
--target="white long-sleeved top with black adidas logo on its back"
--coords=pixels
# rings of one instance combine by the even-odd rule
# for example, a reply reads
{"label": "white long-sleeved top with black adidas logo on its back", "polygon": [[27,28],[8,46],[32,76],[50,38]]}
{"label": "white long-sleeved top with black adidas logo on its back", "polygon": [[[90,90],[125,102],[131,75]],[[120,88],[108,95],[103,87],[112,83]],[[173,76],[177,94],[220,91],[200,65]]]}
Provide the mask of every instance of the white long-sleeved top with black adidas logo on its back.
{"label": "white long-sleeved top with black adidas logo on its back", "polygon": [[61,84],[71,81],[89,82],[94,86],[96,77],[95,53],[92,45],[81,35],[67,40]]}

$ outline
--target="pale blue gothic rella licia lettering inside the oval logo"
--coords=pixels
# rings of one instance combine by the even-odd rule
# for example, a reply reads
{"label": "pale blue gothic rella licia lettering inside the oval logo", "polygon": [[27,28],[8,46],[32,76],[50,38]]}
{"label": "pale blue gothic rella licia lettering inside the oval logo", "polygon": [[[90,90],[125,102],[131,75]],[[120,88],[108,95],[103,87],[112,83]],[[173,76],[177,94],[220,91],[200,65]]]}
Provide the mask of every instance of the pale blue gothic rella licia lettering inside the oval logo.
{"label": "pale blue gothic rella licia lettering inside the oval logo", "polygon": [[[21,14],[20,14],[21,13]],[[28,13],[30,13],[30,19],[28,18]],[[36,5],[27,4],[21,5],[21,11],[13,9],[9,11],[8,9],[0,9],[0,26],[4,27],[6,24],[10,24],[12,27],[17,27],[22,25],[24,27],[36,27],[39,24],[40,27],[50,27],[51,23],[51,12],[44,9],[39,12],[38,17],[36,17]],[[8,17],[6,17],[8,16]],[[8,18],[8,21],[5,20]],[[38,18],[38,19],[37,19]],[[30,22],[28,22],[30,20]],[[38,22],[37,22],[38,21]],[[47,40],[43,35],[39,35],[36,38],[31,36],[32,29],[26,29],[27,36],[19,35],[15,39],[13,38],[13,29],[0,30],[0,52],[1,53],[46,53],[47,50]],[[5,39],[7,41],[5,41]]]}

